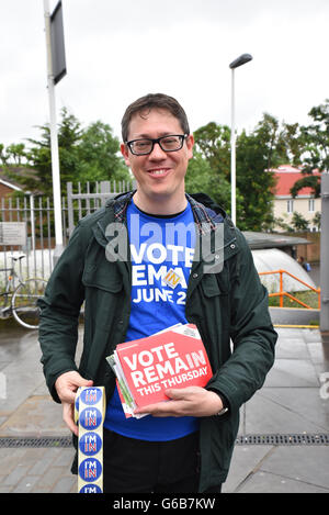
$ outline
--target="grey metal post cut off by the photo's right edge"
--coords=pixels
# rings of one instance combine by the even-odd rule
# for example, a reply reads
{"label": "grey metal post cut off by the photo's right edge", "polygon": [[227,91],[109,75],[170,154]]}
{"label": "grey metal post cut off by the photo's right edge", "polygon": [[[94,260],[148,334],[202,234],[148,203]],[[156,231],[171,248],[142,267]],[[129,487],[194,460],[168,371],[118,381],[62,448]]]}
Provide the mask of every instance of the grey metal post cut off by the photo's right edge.
{"label": "grey metal post cut off by the photo's right edge", "polygon": [[329,172],[321,175],[320,332],[329,336]]}

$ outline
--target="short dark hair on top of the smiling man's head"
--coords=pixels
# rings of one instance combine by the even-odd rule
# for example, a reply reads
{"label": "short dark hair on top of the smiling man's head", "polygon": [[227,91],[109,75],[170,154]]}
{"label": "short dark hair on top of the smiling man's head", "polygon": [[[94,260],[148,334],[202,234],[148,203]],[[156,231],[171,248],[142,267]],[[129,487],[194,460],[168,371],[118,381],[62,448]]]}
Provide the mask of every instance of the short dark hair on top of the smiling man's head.
{"label": "short dark hair on top of the smiling man's head", "polygon": [[141,113],[145,110],[151,109],[166,109],[169,111],[181,124],[184,134],[190,134],[190,126],[185,111],[180,103],[168,94],[163,93],[149,93],[127,107],[125,114],[123,115],[121,127],[123,142],[128,139],[128,128],[132,117],[136,113]]}

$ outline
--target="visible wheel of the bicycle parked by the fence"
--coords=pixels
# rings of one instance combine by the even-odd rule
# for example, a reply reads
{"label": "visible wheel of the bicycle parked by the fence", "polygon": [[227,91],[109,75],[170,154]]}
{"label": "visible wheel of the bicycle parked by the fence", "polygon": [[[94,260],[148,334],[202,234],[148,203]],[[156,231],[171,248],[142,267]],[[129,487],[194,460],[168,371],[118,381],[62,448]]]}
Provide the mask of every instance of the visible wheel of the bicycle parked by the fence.
{"label": "visible wheel of the bicycle parked by the fence", "polygon": [[22,282],[12,295],[12,313],[19,324],[29,329],[36,329],[39,322],[37,300],[44,295],[47,281],[27,279]]}

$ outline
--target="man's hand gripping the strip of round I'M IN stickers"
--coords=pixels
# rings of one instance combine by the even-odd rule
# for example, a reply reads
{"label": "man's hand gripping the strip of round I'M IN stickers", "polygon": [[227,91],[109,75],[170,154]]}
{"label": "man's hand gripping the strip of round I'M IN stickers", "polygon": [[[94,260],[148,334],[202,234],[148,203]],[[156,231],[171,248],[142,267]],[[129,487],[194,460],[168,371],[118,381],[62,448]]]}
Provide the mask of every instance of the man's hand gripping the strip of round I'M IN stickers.
{"label": "man's hand gripping the strip of round I'M IN stickers", "polygon": [[63,404],[63,419],[69,429],[78,436],[75,423],[75,400],[79,387],[92,387],[93,381],[83,379],[76,371],[65,372],[56,379],[55,388]]}

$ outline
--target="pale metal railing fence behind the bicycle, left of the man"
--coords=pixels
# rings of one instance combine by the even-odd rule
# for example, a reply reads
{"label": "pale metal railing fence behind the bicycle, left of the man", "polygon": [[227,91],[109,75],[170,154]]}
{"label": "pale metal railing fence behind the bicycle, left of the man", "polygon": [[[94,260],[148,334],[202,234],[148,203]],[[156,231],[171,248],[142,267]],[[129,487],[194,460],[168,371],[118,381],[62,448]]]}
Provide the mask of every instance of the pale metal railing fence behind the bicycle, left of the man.
{"label": "pale metal railing fence behind the bicycle, left of the man", "polygon": [[[129,191],[134,183],[126,181],[67,183],[67,195],[61,199],[63,242],[67,245],[77,222],[100,209],[106,199]],[[12,255],[24,254],[16,265],[23,278],[48,279],[53,270],[55,248],[53,199],[20,197],[0,200],[0,270],[10,268]],[[0,272],[0,291],[5,283],[5,271]]]}

